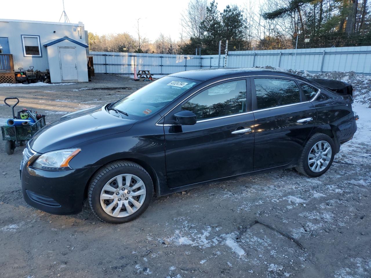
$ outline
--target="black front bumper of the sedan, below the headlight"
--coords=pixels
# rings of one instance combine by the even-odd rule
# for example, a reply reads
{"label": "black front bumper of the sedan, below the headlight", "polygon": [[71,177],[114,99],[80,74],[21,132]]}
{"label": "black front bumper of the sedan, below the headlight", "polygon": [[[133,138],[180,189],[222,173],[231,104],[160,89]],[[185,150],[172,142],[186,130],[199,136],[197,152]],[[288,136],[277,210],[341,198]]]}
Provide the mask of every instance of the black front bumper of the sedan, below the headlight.
{"label": "black front bumper of the sedan, below the headlight", "polygon": [[23,197],[50,214],[76,214],[82,210],[86,185],[96,169],[44,171],[21,164]]}

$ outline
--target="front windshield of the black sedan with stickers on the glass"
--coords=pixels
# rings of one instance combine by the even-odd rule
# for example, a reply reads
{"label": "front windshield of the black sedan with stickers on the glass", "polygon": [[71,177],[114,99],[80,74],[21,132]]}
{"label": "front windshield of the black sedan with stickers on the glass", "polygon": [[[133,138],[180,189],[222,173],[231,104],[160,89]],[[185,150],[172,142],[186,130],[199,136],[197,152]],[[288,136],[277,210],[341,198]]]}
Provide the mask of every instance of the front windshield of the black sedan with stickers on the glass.
{"label": "front windshield of the black sedan with stickers on the glass", "polygon": [[164,76],[119,100],[111,108],[125,112],[129,117],[148,117],[198,83],[200,81]]}

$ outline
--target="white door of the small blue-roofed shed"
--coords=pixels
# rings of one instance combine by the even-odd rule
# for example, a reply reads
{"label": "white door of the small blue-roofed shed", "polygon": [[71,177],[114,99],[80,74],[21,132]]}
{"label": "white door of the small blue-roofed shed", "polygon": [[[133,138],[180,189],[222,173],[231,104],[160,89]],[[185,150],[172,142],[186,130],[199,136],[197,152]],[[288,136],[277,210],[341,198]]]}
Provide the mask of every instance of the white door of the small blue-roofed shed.
{"label": "white door of the small blue-roofed shed", "polygon": [[77,80],[77,64],[75,47],[59,48],[62,81]]}

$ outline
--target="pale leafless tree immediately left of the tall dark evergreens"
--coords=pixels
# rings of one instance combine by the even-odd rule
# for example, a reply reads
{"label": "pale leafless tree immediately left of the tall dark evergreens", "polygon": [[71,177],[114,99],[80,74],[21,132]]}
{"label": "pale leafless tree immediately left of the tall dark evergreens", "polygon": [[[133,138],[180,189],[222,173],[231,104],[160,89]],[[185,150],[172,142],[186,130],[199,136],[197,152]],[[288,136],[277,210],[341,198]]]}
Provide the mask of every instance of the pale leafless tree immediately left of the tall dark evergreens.
{"label": "pale leafless tree immediately left of the tall dark evergreens", "polygon": [[200,38],[203,34],[201,22],[206,17],[207,0],[190,0],[188,8],[181,15],[181,25],[188,37]]}

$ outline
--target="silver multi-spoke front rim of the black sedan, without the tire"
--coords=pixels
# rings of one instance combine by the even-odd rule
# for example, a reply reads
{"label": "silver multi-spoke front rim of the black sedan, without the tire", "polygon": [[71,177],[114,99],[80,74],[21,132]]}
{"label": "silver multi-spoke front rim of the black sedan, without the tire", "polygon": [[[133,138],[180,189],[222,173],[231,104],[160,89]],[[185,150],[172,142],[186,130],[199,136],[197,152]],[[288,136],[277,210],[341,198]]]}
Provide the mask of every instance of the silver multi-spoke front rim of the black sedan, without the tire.
{"label": "silver multi-spoke front rim of the black sedan, without the tire", "polygon": [[140,178],[131,174],[118,175],[103,186],[101,206],[108,215],[129,216],[143,205],[145,194],[145,185]]}

